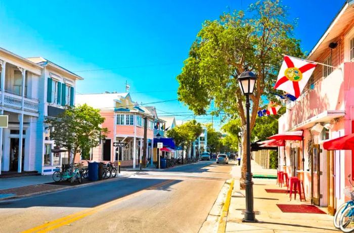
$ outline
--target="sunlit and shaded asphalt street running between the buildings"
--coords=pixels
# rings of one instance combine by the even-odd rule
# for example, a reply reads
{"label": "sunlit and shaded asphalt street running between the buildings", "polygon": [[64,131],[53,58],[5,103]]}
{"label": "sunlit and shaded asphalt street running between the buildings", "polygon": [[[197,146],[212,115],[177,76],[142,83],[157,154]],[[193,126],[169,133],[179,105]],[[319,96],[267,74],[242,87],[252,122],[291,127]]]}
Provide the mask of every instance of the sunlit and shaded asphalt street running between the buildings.
{"label": "sunlit and shaded asphalt street running between the buildings", "polygon": [[0,232],[198,232],[232,165],[199,162],[0,203]]}

